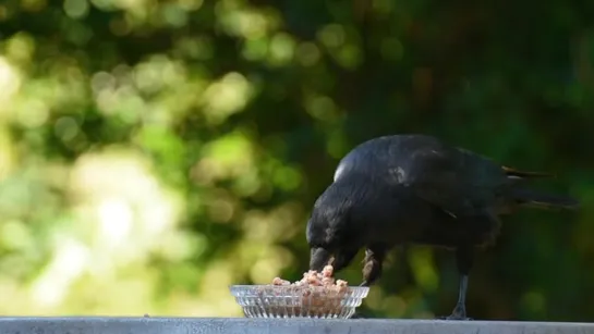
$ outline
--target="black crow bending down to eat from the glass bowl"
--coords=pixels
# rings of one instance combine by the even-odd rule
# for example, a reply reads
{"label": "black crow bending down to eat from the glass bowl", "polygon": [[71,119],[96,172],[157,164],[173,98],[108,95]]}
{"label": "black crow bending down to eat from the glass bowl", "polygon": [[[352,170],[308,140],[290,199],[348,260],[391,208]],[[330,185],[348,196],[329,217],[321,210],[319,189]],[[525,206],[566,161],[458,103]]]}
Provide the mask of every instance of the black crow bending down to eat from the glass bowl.
{"label": "black crow bending down to eat from the glass bowl", "polygon": [[316,200],[306,237],[311,270],[338,272],[365,248],[363,283],[381,274],[386,252],[421,244],[456,252],[458,304],[446,319],[468,320],[465,295],[475,250],[492,245],[499,215],[518,207],[575,208],[565,196],[525,188],[545,173],[522,172],[425,135],[385,136],[355,147]]}

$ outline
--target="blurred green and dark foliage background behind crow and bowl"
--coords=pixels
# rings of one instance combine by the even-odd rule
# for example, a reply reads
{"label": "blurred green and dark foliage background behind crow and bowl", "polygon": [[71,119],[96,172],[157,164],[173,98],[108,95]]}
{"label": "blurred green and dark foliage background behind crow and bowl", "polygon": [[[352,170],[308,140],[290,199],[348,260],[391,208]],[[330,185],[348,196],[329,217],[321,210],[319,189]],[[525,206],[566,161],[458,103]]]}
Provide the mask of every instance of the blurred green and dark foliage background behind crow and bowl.
{"label": "blurred green and dark foliage background behind crow and bowl", "polygon": [[[522,211],[478,319],[594,320],[594,2],[0,1],[2,314],[240,316],[301,277],[363,140],[425,133],[584,202]],[[359,259],[339,277],[359,284]],[[452,255],[395,251],[363,313],[449,314]]]}

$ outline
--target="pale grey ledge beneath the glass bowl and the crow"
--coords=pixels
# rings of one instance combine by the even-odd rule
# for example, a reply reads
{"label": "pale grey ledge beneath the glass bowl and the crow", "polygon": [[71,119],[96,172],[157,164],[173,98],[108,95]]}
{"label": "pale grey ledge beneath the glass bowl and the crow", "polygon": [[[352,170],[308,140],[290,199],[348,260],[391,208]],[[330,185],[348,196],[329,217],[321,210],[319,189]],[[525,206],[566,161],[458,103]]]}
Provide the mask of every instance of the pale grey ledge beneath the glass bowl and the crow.
{"label": "pale grey ledge beneath the glass bowl and the crow", "polygon": [[2,334],[586,334],[594,324],[243,318],[0,318]]}

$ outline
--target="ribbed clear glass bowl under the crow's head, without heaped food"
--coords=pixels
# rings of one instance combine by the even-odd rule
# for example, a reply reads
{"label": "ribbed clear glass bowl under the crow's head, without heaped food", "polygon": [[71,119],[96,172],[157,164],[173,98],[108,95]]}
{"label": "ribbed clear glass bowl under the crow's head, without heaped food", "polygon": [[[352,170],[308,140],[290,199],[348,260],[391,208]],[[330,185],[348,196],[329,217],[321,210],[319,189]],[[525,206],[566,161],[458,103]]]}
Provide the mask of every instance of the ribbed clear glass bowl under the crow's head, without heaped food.
{"label": "ribbed clear glass bowl under the crow's head, without heaped food", "polygon": [[232,285],[231,295],[246,318],[348,319],[354,314],[366,286],[341,290],[324,286]]}

